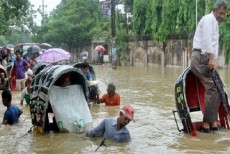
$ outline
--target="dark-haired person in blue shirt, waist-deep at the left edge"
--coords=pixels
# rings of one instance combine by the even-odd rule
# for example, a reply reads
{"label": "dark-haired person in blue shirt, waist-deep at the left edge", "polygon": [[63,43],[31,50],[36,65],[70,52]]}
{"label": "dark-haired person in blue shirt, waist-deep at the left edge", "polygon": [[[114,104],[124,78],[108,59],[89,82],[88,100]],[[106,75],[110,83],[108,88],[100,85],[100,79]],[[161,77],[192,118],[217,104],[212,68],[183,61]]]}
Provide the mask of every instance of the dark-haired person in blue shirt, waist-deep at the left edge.
{"label": "dark-haired person in blue shirt, waist-deep at the left edge", "polygon": [[20,115],[23,113],[16,105],[11,103],[12,95],[9,90],[2,91],[2,103],[7,107],[4,113],[2,124],[14,125],[18,123]]}

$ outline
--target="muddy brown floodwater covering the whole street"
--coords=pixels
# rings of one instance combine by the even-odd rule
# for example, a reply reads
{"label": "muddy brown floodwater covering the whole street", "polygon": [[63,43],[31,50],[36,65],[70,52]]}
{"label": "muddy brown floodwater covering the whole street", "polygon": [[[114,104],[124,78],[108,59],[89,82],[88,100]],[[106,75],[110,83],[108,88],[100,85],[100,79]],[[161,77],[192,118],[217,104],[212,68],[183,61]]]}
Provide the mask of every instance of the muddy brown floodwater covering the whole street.
{"label": "muddy brown floodwater covering the whole street", "polygon": [[[94,66],[97,79],[108,84],[115,83],[121,96],[121,106],[132,104],[135,109],[134,122],[127,126],[132,140],[116,143],[106,140],[106,147],[96,148],[102,138],[89,139],[77,133],[28,133],[32,126],[29,106],[20,106],[20,93],[13,92],[13,103],[23,114],[16,126],[0,125],[0,153],[230,153],[230,130],[215,134],[197,133],[197,137],[178,132],[172,114],[175,109],[174,83],[182,68]],[[230,94],[230,73],[219,70]],[[120,107],[93,105],[91,113],[93,127],[106,117],[117,117]],[[0,119],[6,107],[0,103]],[[180,119],[177,116],[180,124]],[[182,125],[180,124],[182,128]]]}

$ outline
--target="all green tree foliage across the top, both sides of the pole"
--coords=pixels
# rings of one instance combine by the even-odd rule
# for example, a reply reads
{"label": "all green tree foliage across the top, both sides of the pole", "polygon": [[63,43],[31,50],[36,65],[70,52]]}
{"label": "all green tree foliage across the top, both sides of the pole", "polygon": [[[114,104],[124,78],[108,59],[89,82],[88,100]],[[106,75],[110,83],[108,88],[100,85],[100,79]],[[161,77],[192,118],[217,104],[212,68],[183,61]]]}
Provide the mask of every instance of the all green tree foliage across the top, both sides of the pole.
{"label": "all green tree foliage across the top, both sides of the pole", "polygon": [[[227,0],[230,3],[230,0]],[[196,14],[197,2],[197,14]],[[116,11],[117,47],[124,52],[128,31],[136,35],[151,35],[155,42],[165,43],[169,38],[185,35],[192,39],[203,15],[212,11],[216,0],[115,0],[124,4],[125,12],[131,12],[132,20]],[[34,22],[33,9],[28,9],[28,0],[0,1],[0,33],[9,31],[9,25],[27,25],[36,42],[49,42],[57,47],[79,47],[92,40],[111,41],[111,19],[100,16],[98,0],[62,0],[49,16],[43,16],[42,25]],[[19,24],[20,23],[20,24]],[[24,23],[24,24],[22,24]],[[132,26],[130,28],[130,26]],[[221,47],[225,61],[230,57],[230,19],[220,27]],[[26,32],[26,29],[24,28]],[[3,39],[2,39],[3,40]],[[123,48],[123,49],[122,49]],[[122,55],[122,54],[120,54]]]}

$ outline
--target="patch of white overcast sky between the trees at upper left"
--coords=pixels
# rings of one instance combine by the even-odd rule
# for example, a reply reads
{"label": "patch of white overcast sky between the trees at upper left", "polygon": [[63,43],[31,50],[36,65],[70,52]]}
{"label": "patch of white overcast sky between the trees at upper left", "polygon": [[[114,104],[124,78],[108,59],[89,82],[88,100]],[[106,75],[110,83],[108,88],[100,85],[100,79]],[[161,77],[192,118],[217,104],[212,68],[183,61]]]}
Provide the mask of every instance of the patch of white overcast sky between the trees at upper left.
{"label": "patch of white overcast sky between the trees at upper left", "polygon": [[[58,4],[60,4],[61,0],[30,0],[31,4],[34,5],[34,10],[37,10],[39,7],[42,6],[42,2],[44,2],[45,8],[44,11],[45,13],[50,13],[53,9],[56,8]],[[38,17],[35,19],[35,22],[37,24],[41,23],[41,16],[38,15]]]}

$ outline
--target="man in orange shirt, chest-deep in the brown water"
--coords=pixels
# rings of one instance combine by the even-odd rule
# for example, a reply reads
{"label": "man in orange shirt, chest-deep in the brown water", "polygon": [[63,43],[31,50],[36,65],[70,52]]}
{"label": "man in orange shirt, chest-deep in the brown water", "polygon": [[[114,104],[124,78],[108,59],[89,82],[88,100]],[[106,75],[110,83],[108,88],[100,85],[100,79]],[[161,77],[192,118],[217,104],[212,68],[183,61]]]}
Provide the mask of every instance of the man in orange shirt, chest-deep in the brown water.
{"label": "man in orange shirt, chest-deep in the brown water", "polygon": [[103,94],[97,103],[105,103],[107,106],[120,105],[120,95],[116,93],[116,86],[113,83],[108,84],[107,93]]}

